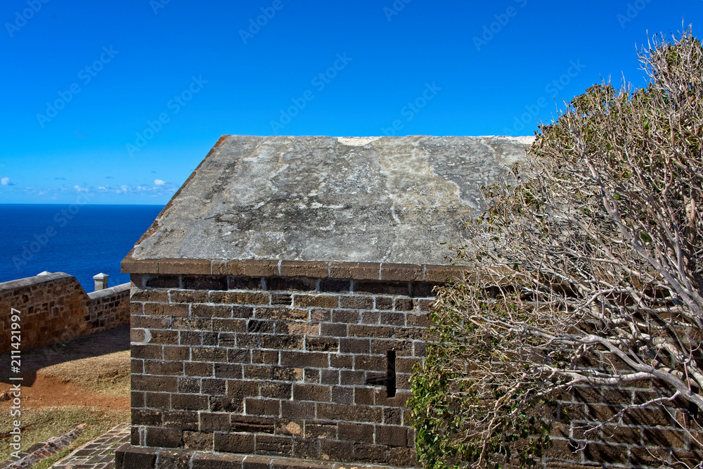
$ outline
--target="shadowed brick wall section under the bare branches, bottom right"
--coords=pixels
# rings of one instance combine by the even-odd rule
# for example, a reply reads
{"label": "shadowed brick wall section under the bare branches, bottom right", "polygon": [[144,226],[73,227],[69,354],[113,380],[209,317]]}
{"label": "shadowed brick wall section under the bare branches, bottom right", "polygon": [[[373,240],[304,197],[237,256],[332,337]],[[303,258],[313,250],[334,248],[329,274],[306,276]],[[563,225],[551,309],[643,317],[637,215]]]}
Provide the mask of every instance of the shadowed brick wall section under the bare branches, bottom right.
{"label": "shadowed brick wall section under the bare branches, bottom right", "polygon": [[[617,364],[609,360],[613,362]],[[591,361],[590,368],[598,366],[607,364]],[[555,444],[544,458],[545,467],[699,467],[703,451],[695,439],[703,442],[703,431],[682,401],[650,403],[661,395],[651,380],[565,392],[557,400],[561,418],[555,419]]]}

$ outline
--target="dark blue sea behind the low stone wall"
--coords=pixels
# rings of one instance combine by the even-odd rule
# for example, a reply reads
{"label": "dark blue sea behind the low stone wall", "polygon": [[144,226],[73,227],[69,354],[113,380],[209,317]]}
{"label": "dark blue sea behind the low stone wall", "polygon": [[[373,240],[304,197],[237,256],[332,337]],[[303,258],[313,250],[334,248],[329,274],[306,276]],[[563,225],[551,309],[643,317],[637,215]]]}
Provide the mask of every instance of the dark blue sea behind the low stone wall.
{"label": "dark blue sea behind the low stone wall", "polygon": [[162,205],[0,205],[0,282],[43,271],[75,276],[87,293],[93,275],[129,282],[120,262]]}

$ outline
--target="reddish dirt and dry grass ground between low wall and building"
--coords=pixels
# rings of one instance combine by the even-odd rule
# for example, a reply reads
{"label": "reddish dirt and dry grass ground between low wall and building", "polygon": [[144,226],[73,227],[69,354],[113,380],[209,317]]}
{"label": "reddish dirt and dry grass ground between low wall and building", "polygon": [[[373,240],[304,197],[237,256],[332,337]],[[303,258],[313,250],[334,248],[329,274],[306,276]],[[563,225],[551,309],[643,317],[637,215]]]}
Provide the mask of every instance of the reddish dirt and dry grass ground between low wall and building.
{"label": "reddish dirt and dry grass ground between low wall and building", "polygon": [[[16,356],[15,356],[16,358]],[[11,416],[13,401],[4,392],[17,383],[8,378],[11,354],[0,354],[0,461],[8,458],[9,430],[20,418],[22,447],[44,442],[84,425],[82,435],[61,454],[129,421],[129,326],[62,344],[22,350],[21,416]]]}

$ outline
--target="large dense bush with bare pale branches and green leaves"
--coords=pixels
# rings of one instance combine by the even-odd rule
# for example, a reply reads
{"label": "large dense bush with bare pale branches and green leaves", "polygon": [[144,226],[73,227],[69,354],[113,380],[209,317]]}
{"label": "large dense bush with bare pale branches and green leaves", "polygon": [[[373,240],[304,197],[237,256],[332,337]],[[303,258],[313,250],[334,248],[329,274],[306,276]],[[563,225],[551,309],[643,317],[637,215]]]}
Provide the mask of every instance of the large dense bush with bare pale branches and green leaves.
{"label": "large dense bush with bare pale branches and green leaves", "polygon": [[651,379],[645,404],[703,410],[703,50],[688,30],[640,60],[645,88],[587,89],[484,189],[413,373],[425,467],[531,465],[573,385]]}

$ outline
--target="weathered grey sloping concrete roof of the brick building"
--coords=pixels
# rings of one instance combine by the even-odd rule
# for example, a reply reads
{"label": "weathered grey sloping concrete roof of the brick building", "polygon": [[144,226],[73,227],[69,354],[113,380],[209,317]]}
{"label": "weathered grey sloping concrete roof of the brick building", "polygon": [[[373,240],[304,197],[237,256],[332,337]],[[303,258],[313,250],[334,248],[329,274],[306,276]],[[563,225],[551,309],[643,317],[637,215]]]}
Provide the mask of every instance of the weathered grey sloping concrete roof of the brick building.
{"label": "weathered grey sloping concrete roof of the brick building", "polygon": [[446,265],[447,244],[463,244],[462,224],[484,209],[479,188],[529,143],[224,136],[127,259]]}

